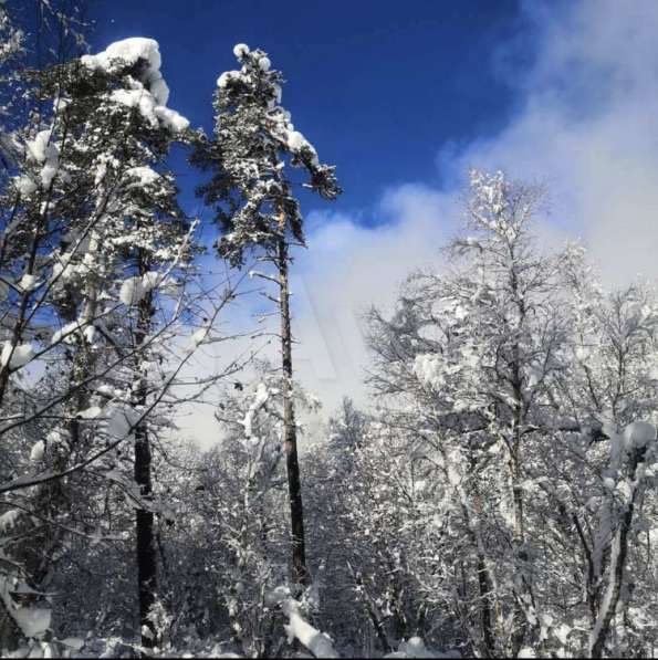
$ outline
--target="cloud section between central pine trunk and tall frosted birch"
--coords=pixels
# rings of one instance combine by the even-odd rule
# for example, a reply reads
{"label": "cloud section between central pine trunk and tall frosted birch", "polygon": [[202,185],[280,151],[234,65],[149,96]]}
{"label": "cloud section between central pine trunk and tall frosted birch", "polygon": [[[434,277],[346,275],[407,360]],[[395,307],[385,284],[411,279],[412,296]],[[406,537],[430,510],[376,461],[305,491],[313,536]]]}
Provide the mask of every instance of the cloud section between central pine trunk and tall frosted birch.
{"label": "cloud section between central pine trunk and tall frosted birch", "polygon": [[362,313],[389,306],[409,270],[439,261],[459,213],[451,195],[420,185],[387,191],[379,211],[386,222],[374,228],[328,213],[322,221],[311,217],[316,230],[295,262],[303,291],[295,305],[295,366],[330,409],[344,395],[363,396]]}

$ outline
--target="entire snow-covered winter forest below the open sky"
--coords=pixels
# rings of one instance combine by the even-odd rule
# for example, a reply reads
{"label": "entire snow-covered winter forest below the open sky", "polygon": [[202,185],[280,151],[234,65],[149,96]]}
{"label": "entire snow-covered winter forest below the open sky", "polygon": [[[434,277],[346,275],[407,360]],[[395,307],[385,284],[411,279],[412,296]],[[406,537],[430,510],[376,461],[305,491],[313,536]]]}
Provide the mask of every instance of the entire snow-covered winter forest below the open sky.
{"label": "entire snow-covered winter forest below the open sky", "polygon": [[656,270],[610,285],[550,185],[471,166],[323,400],[296,269],[358,182],[294,66],[234,45],[207,130],[92,9],[0,1],[0,654],[654,658]]}

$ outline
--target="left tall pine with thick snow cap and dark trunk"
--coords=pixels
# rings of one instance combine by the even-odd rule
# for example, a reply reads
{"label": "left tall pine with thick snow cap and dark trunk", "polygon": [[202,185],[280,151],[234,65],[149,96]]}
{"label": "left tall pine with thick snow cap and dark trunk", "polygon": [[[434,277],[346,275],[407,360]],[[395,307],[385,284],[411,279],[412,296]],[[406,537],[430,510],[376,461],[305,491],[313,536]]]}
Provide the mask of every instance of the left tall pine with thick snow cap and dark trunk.
{"label": "left tall pine with thick snow cap and dark trunk", "polygon": [[[137,583],[142,645],[157,646],[152,609],[157,591],[157,561],[154,531],[152,440],[144,415],[153,385],[149,366],[157,359],[150,345],[154,331],[155,296],[171,270],[191,256],[189,224],[176,201],[177,188],[170,172],[159,172],[174,139],[187,128],[187,122],[166,107],[168,88],[163,80],[158,45],[153,40],[130,39],[112,44],[105,52],[83,59],[92,72],[118,78],[121,86],[103,96],[107,104],[101,116],[129,126],[121,142],[114,142],[118,157],[103,154],[103,176],[118,164],[118,181],[124,197],[115,203],[117,226],[109,226],[97,244],[98,256],[108,260],[111,282],[121,284],[119,300],[128,307],[129,325],[121,341],[134,357],[123,365],[128,405],[135,425],[134,479],[139,489],[140,506],[136,510]],[[125,81],[125,82],[124,82]],[[137,97],[135,98],[135,94]],[[126,103],[127,101],[127,103]],[[118,102],[118,103],[117,103]],[[107,228],[106,228],[107,229]],[[86,255],[85,255],[86,256]],[[127,277],[126,277],[127,275]],[[87,281],[93,275],[87,276]],[[105,282],[106,286],[108,282]]]}

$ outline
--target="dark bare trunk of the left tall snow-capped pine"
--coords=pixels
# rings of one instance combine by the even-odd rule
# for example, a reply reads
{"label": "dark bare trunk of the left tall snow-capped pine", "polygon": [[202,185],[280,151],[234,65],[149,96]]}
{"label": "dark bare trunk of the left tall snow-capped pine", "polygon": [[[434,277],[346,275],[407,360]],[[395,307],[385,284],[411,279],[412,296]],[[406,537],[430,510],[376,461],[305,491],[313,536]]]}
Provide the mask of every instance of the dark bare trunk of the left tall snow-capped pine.
{"label": "dark bare trunk of the left tall snow-capped pine", "polygon": [[[144,274],[146,266],[139,260],[139,272]],[[146,339],[153,316],[153,296],[148,293],[138,303],[137,329],[135,343],[137,348]],[[147,383],[143,374],[144,356],[137,350],[135,356],[135,379],[133,405],[143,411],[147,402]],[[136,544],[137,544],[137,584],[139,593],[139,629],[142,646],[150,649],[157,646],[156,629],[149,618],[155,604],[157,590],[157,557],[154,533],[153,483],[150,475],[150,443],[146,421],[142,420],[135,427],[135,482],[139,489],[143,505],[136,512]],[[143,657],[147,657],[143,653]]]}

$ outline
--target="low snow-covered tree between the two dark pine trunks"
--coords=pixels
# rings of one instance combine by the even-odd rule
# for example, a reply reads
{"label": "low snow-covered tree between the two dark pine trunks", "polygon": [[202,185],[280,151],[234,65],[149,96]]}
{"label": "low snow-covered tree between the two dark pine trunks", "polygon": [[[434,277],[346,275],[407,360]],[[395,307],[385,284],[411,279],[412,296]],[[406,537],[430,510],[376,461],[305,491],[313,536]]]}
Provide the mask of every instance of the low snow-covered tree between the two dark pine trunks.
{"label": "low snow-covered tree between the two dark pine trunks", "polygon": [[[221,440],[192,457],[192,478],[179,484],[173,470],[164,478],[180,505],[175,517],[185,524],[163,532],[168,563],[180,567],[163,587],[180,612],[179,631],[188,626],[248,657],[279,656],[285,618],[271,596],[288,580],[290,544],[282,378],[264,360],[252,366],[252,381],[222,392]],[[297,409],[315,406],[300,387],[295,397]],[[199,576],[207,577],[202,586]]]}

